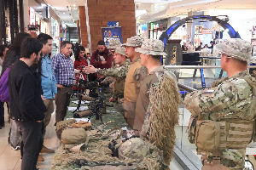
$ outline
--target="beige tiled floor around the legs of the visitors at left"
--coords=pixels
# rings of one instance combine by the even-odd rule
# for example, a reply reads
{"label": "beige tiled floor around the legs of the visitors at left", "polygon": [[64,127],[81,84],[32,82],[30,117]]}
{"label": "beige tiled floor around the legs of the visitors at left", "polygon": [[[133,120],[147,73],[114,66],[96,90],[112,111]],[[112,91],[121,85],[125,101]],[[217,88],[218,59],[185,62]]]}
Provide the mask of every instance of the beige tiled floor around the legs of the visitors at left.
{"label": "beige tiled floor around the legs of the visitors at left", "polygon": [[[6,108],[6,107],[5,107]],[[6,109],[5,109],[6,111]],[[7,113],[5,113],[7,121]],[[57,150],[60,140],[55,135],[55,114],[52,115],[51,122],[46,129],[44,145],[48,148]],[[8,144],[9,122],[5,122],[5,127],[0,129],[0,170],[20,170],[20,150],[13,150]],[[38,163],[40,170],[49,170],[54,154],[44,154],[44,161]]]}

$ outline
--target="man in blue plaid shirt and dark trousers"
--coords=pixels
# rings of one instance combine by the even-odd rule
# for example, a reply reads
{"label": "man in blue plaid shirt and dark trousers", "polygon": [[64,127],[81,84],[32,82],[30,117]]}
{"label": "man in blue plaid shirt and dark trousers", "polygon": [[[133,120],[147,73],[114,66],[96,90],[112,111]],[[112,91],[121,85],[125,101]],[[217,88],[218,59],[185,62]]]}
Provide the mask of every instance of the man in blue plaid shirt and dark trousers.
{"label": "man in blue plaid shirt and dark trousers", "polygon": [[57,82],[57,97],[55,122],[61,122],[67,115],[67,106],[70,102],[74,77],[73,60],[70,59],[72,43],[64,41],[61,43],[61,53],[56,54],[52,59],[52,67]]}

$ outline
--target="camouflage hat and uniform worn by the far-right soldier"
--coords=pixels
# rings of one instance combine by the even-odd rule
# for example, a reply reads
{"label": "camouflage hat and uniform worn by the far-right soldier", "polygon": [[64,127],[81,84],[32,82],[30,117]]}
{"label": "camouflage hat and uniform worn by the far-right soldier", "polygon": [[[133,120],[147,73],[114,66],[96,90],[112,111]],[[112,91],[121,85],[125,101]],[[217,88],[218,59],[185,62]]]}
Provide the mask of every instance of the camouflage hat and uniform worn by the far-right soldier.
{"label": "camouflage hat and uniform worn by the far-right soldier", "polygon": [[[220,44],[215,48],[229,57],[248,62],[250,55],[244,53],[250,50],[245,49],[245,42],[236,39],[235,41],[228,40],[224,45]],[[240,51],[244,53],[239,55]],[[256,81],[246,70],[214,82],[212,88],[187,94],[185,98],[186,108],[192,116],[198,116],[198,121],[224,122],[224,133],[221,132],[222,127],[220,129],[220,141],[225,141],[225,147],[216,150],[216,153],[220,158],[220,164],[230,169],[244,167],[246,147],[253,136],[255,97]],[[231,124],[237,123],[240,123],[239,128],[231,127]],[[247,129],[242,129],[243,127]],[[231,131],[233,132],[230,133]],[[213,161],[213,156],[216,156],[216,153],[200,153],[206,158],[205,161]]]}

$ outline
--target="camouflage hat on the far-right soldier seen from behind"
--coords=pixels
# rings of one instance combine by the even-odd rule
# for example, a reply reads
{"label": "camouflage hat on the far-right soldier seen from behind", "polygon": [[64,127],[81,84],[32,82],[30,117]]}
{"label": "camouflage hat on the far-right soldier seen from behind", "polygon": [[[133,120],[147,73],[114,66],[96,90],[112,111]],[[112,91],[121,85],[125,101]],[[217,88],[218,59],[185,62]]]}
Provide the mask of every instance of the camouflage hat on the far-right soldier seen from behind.
{"label": "camouflage hat on the far-right soldier seen from behind", "polygon": [[250,63],[252,58],[252,45],[250,42],[241,38],[230,38],[224,40],[223,43],[215,45],[213,48],[215,54],[227,54],[231,58],[239,59]]}

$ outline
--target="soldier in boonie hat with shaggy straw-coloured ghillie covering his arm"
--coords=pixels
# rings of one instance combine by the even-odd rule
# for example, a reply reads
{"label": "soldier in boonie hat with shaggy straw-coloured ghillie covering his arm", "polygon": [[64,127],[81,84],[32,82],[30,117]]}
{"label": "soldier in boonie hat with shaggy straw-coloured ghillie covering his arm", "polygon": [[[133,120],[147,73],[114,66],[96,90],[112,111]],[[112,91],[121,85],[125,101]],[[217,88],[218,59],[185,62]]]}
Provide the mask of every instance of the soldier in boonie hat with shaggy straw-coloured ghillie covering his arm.
{"label": "soldier in boonie hat with shaggy straw-coloured ghillie covering his arm", "polygon": [[176,77],[160,65],[160,58],[166,54],[164,43],[160,40],[146,39],[142,47],[135,50],[141,53],[141,63],[148,69],[148,75],[140,83],[133,128],[163,150],[169,165],[180,103]]}

